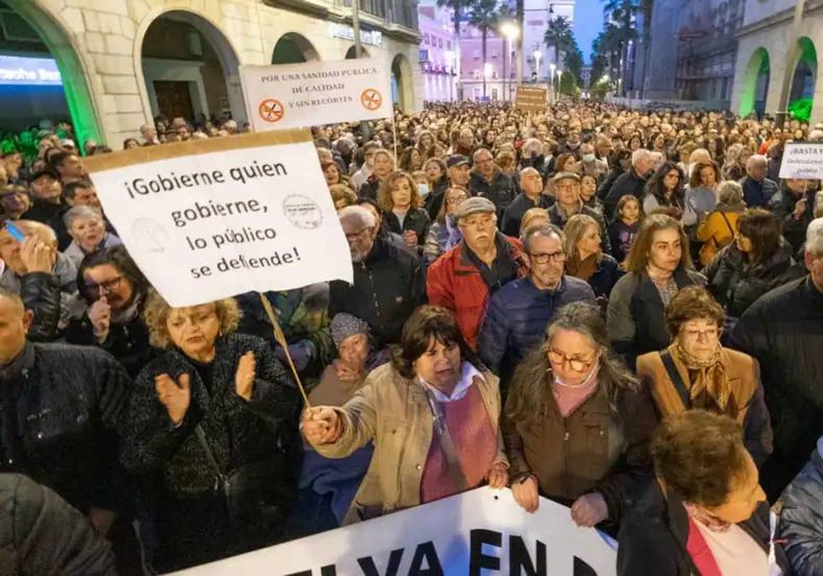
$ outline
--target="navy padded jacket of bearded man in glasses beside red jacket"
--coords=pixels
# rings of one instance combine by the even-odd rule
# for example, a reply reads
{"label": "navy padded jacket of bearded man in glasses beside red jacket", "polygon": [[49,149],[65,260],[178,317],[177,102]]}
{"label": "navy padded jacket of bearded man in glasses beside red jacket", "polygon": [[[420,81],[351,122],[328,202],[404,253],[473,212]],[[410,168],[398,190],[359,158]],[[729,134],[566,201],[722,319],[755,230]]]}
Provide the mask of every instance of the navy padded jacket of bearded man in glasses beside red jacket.
{"label": "navy padded jacket of bearded man in glasses beside red jacket", "polygon": [[520,361],[543,341],[546,325],[557,310],[580,300],[593,302],[594,292],[572,276],[563,276],[557,290],[538,290],[528,276],[509,282],[489,300],[477,337],[481,360],[508,380]]}

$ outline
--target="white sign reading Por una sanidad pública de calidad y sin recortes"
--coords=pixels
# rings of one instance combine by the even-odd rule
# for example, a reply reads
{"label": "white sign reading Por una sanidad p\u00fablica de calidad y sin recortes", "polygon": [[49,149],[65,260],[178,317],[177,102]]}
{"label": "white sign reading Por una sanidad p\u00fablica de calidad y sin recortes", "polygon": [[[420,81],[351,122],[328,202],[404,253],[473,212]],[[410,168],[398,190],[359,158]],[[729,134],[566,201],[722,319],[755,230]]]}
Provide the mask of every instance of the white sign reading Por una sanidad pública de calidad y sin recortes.
{"label": "white sign reading Por una sanidad p\u00fablica de calidad y sin recortes", "polygon": [[240,68],[254,132],[391,118],[388,78],[384,58]]}

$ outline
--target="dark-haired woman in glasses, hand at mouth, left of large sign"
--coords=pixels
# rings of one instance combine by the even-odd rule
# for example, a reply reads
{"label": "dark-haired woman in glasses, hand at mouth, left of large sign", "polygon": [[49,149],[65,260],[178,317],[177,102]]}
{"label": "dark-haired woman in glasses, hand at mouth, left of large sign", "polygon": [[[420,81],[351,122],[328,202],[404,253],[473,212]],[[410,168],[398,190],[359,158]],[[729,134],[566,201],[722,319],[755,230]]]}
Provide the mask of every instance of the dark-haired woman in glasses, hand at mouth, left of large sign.
{"label": "dark-haired woman in glasses, hand at mouth, left of large sign", "polygon": [[100,346],[136,376],[154,352],[142,320],[149,283],[123,246],[91,253],[77,271],[88,308],[66,330],[72,344]]}

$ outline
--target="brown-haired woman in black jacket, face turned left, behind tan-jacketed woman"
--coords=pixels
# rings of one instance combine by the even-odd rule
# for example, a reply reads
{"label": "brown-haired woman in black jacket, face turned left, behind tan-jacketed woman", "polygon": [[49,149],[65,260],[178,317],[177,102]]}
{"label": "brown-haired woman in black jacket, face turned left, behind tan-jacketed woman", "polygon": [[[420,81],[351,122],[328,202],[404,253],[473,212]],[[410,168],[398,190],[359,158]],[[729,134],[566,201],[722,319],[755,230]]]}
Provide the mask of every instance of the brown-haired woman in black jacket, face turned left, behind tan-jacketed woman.
{"label": "brown-haired woman in black jacket, face turned left, behind tan-jacketed woman", "polygon": [[737,223],[735,241],[709,262],[703,274],[709,291],[732,318],[769,290],[803,276],[792,258],[792,245],[780,235],[780,221],[770,211],[750,208]]}

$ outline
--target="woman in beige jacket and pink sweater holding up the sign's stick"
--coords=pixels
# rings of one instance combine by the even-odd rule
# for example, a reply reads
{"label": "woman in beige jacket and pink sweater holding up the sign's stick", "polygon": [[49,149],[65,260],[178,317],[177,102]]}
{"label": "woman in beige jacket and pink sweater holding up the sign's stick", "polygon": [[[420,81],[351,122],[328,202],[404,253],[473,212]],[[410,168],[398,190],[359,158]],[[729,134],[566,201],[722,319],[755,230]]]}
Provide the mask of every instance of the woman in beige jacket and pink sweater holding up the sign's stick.
{"label": "woman in beige jacket and pink sweater holding up the sign's stick", "polygon": [[403,327],[392,363],[374,369],[349,402],[304,412],[305,438],[323,456],[345,458],[374,440],[370,473],[352,504],[360,518],[484,481],[506,485],[498,379],[478,366],[453,314],[423,306]]}

